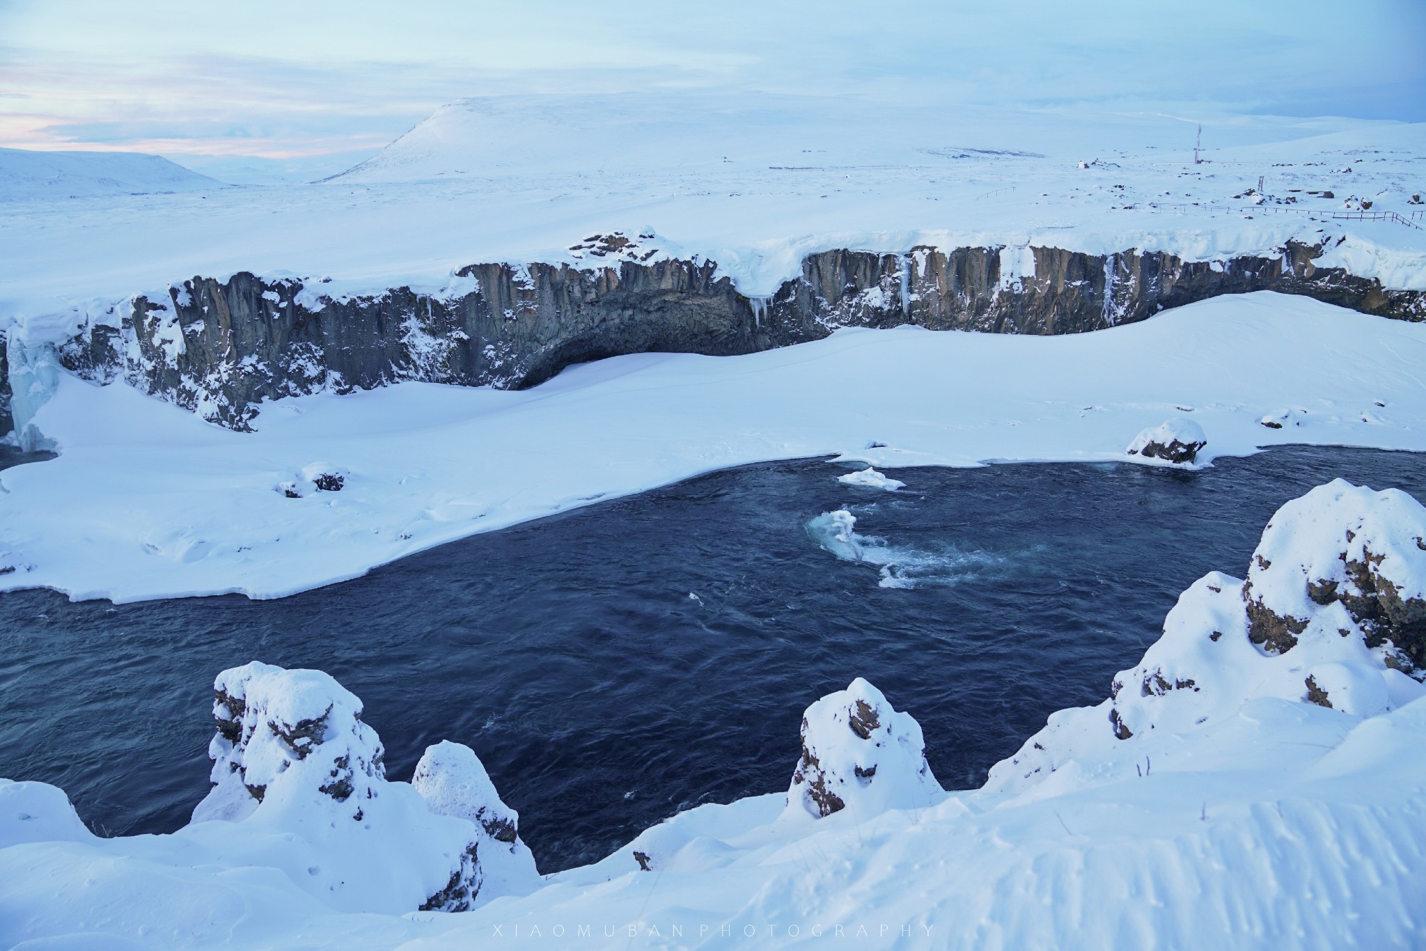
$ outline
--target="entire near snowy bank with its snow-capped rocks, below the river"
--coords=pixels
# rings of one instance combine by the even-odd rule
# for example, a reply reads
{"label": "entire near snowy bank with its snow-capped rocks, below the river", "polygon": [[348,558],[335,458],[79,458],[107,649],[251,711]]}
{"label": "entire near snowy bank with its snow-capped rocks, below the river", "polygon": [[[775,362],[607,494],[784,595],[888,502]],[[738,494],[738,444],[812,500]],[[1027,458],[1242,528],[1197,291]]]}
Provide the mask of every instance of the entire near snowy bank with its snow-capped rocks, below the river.
{"label": "entire near snowy bank with its snow-capped rocks, below the river", "polygon": [[[1413,947],[1423,580],[1426,509],[1320,486],[1273,516],[1246,585],[1196,582],[1114,696],[1052,714],[981,790],[941,791],[915,720],[858,679],[807,709],[800,756],[789,737],[787,794],[702,806],[545,880],[516,870],[461,914],[411,908],[459,843],[483,863],[508,838],[475,756],[439,744],[415,788],[388,783],[355,697],[248,664],[218,677],[200,808],[228,820],[101,840],[60,790],[0,781],[0,942]],[[1255,634],[1263,610],[1301,622],[1292,643]],[[314,788],[325,774],[349,794]]]}

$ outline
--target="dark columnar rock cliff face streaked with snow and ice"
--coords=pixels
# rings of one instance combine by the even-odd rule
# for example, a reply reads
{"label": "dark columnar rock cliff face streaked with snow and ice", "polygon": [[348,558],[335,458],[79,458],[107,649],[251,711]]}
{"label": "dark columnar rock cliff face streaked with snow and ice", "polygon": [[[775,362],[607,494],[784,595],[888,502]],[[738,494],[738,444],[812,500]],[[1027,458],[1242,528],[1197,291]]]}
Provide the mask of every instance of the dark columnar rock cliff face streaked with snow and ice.
{"label": "dark columnar rock cliff face streaked with snow and ice", "polygon": [[[458,289],[443,295],[394,288],[332,298],[321,284],[195,277],[164,299],[135,297],[124,312],[60,346],[58,356],[81,376],[123,376],[212,422],[247,429],[255,403],[270,398],[405,379],[523,388],[570,364],[619,354],[749,354],[838,327],[1077,334],[1248,291],[1426,319],[1422,292],[1318,268],[1320,254],[1299,244],[1272,258],[1222,262],[1037,247],[841,250],[806,258],[801,275],[770,298],[739,294],[710,261],[647,255],[582,262],[582,269],[479,264],[461,269]],[[0,368],[3,361],[0,349]],[[0,412],[7,402],[0,382]]]}

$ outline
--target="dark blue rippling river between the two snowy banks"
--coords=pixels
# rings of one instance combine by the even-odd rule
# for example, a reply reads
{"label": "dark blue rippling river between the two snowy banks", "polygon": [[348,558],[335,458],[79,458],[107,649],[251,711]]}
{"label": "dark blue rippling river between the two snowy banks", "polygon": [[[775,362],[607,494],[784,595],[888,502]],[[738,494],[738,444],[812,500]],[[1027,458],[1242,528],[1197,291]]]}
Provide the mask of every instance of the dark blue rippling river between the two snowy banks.
{"label": "dark blue rippling river between the two snowy banks", "polygon": [[[214,674],[319,667],[365,700],[392,778],[473,747],[553,871],[786,788],[803,709],[858,674],[920,720],[943,786],[978,786],[1105,697],[1194,579],[1241,575],[1282,502],[1339,475],[1426,499],[1426,458],[1346,449],[904,469],[896,493],[846,471],[720,472],[277,602],[0,595],[0,776],[63,787],[98,831],[173,830],[207,791]],[[807,523],[837,509],[887,572],[819,546]]]}

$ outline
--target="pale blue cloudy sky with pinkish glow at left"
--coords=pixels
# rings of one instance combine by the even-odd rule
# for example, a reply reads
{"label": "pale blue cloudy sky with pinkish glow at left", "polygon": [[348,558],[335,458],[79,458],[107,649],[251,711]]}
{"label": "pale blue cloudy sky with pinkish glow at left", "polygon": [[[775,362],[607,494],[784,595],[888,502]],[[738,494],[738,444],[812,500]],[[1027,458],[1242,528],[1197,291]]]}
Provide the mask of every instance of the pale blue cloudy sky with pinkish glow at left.
{"label": "pale blue cloudy sky with pinkish glow at left", "polygon": [[1426,121],[1426,0],[683,7],[0,0],[0,145],[314,177],[455,98],[690,88]]}

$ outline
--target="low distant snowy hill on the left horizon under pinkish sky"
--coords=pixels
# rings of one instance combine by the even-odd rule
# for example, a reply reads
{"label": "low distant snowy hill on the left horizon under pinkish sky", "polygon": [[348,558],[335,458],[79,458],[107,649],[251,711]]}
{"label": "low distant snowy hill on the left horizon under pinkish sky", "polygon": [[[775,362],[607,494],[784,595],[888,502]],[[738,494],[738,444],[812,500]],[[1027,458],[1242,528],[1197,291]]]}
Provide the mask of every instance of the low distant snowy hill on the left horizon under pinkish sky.
{"label": "low distant snowy hill on the left horizon under pinkish sky", "polygon": [[143,153],[0,148],[0,201],[144,195],[224,188],[221,181]]}

